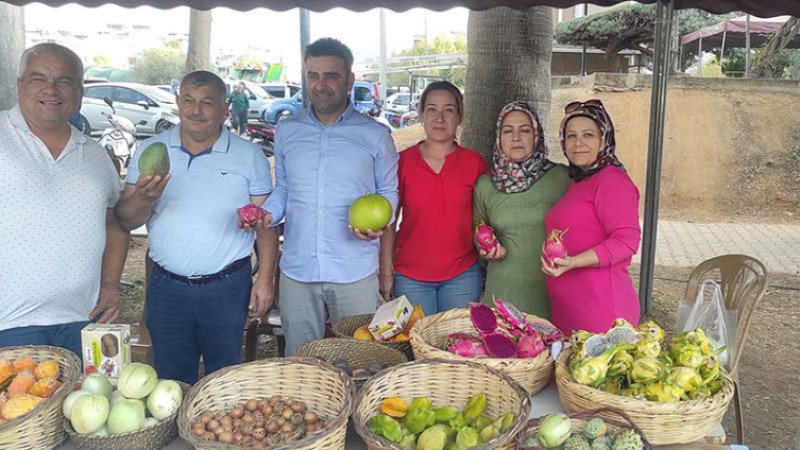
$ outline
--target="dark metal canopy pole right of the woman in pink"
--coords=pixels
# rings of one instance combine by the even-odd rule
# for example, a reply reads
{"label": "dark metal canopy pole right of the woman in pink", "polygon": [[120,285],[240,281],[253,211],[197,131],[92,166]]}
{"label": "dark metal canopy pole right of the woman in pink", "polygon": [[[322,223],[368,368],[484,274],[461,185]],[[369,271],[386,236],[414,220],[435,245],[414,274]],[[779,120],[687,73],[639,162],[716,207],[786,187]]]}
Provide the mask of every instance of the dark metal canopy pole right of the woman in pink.
{"label": "dark metal canopy pole right of the woman in pink", "polygon": [[665,17],[664,5],[659,1],[656,13],[653,90],[650,97],[650,141],[647,154],[642,262],[639,272],[639,302],[644,313],[649,312],[652,306],[658,231],[658,200],[661,190],[661,157],[664,146],[664,119],[666,117],[667,82],[669,81],[670,57],[672,55],[666,42],[672,33],[674,9],[674,0],[669,0]]}

